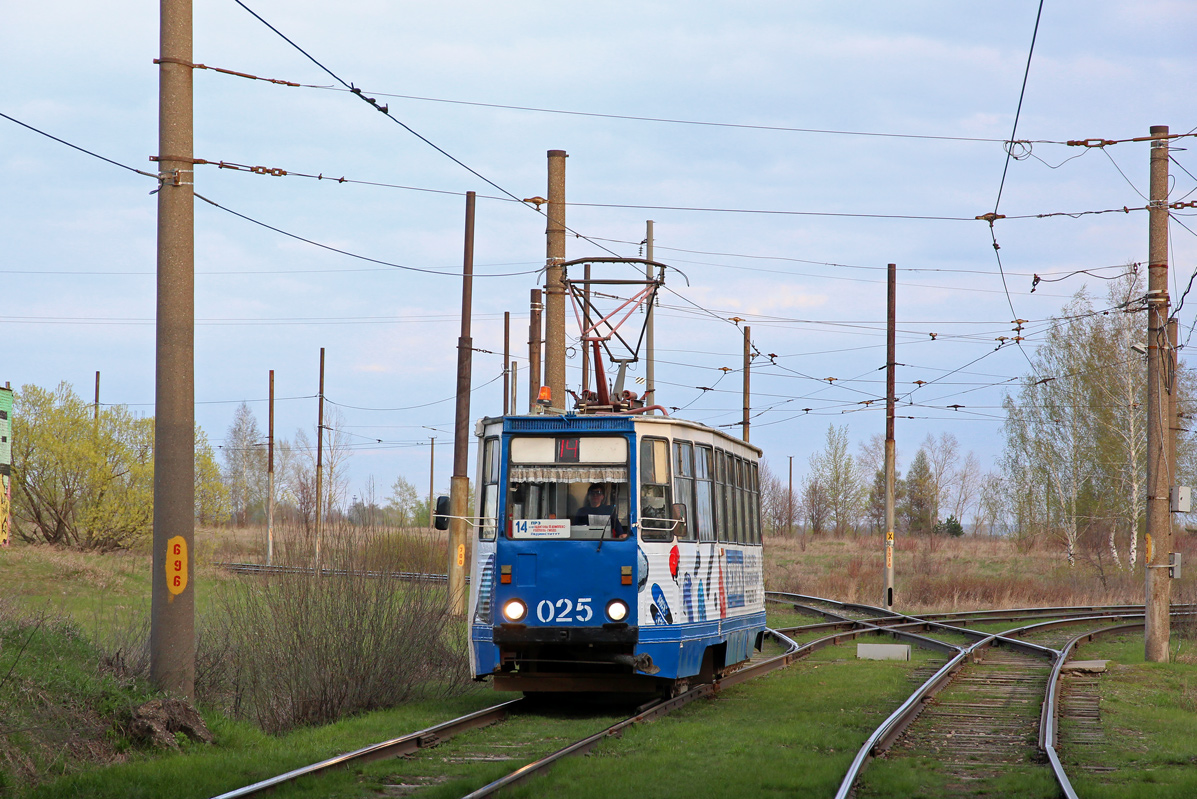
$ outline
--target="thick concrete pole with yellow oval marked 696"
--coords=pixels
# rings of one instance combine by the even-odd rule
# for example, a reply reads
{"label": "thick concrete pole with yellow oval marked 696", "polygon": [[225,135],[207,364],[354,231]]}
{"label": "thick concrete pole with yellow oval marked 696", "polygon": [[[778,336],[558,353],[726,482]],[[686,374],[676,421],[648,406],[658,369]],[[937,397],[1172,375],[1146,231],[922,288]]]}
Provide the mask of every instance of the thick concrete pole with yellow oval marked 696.
{"label": "thick concrete pole with yellow oval marked 696", "polygon": [[195,693],[195,206],[192,2],[160,0],[150,682]]}

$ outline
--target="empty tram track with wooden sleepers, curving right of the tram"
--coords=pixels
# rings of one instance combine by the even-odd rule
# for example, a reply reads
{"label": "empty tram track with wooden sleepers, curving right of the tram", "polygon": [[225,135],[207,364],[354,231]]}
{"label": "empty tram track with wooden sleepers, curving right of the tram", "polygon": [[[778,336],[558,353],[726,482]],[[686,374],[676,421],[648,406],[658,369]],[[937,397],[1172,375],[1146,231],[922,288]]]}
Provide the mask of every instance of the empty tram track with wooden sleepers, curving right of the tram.
{"label": "empty tram track with wooden sleepers, curving right of the tram", "polygon": [[[828,621],[788,628],[789,632],[834,628],[840,635],[873,627],[899,630],[943,630],[973,639],[941,669],[930,675],[869,737],[849,768],[837,799],[858,795],[861,774],[876,757],[925,757],[944,775],[950,795],[971,794],[1017,768],[1050,767],[1058,793],[1076,792],[1058,754],[1062,672],[1069,655],[1083,641],[1099,635],[1142,628],[1143,610],[1135,605],[1028,608],[1015,610],[928,614],[895,618],[881,609],[861,618],[867,605],[770,592],[767,599],[812,612]],[[798,600],[798,602],[796,602]],[[831,609],[828,609],[831,608]],[[838,612],[839,610],[844,612]],[[1192,616],[1192,605],[1178,606],[1177,616]],[[1027,622],[1002,633],[985,634],[970,623]],[[1080,635],[1065,630],[1092,626]],[[1095,685],[1089,678],[1080,713],[1087,713],[1088,737],[1095,727]],[[1082,689],[1082,690],[1086,690]],[[862,794],[867,795],[867,794]],[[988,794],[986,794],[988,795]]]}

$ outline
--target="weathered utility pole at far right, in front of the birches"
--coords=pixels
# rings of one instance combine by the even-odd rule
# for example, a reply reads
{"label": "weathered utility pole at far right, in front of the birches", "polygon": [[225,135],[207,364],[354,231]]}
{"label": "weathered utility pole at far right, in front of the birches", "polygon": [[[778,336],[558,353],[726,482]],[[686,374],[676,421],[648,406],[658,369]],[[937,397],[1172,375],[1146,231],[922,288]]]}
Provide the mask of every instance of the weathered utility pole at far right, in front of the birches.
{"label": "weathered utility pole at far right, in front of the birches", "polygon": [[1168,347],[1168,128],[1152,126],[1150,202],[1147,244],[1147,556],[1144,657],[1168,661],[1168,611],[1172,584],[1169,488],[1174,462],[1168,457],[1168,405],[1174,373]]}

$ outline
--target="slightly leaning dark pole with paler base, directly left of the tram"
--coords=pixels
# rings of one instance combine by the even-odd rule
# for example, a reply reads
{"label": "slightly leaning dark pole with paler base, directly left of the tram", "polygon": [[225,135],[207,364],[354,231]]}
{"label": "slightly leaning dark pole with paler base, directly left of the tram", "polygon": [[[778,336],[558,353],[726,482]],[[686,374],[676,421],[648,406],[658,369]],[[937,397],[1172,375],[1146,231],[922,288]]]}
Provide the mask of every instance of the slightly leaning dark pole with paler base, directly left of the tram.
{"label": "slightly leaning dark pole with paler base, directly left of the tram", "polygon": [[474,340],[469,317],[474,292],[474,193],[466,193],[466,252],[462,258],[461,337],[457,338],[457,415],[452,431],[452,482],[449,487],[449,611],[466,612],[466,559],[469,544],[469,385]]}

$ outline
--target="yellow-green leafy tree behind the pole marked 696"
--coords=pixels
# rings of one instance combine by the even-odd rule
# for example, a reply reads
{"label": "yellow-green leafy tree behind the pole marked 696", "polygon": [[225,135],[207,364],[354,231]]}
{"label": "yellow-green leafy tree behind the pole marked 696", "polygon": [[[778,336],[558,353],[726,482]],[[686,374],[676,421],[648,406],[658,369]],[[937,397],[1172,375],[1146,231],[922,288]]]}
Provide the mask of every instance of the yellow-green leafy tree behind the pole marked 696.
{"label": "yellow-green leafy tree behind the pole marked 696", "polygon": [[[153,419],[99,413],[67,383],[22,386],[13,408],[13,527],[34,543],[121,549],[153,532]],[[202,431],[196,428],[198,438]],[[211,447],[196,446],[196,514],[212,507]]]}

